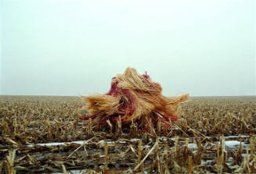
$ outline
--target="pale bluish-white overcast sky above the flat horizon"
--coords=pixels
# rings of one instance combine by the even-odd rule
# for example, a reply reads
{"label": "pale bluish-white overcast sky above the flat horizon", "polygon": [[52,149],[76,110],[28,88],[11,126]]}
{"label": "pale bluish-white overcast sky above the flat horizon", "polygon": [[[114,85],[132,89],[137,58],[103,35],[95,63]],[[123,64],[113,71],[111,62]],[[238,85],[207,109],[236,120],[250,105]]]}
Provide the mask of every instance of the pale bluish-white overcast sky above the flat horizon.
{"label": "pale bluish-white overcast sky above the flat horizon", "polygon": [[0,2],[1,94],[103,94],[128,66],[169,96],[256,94],[254,0]]}

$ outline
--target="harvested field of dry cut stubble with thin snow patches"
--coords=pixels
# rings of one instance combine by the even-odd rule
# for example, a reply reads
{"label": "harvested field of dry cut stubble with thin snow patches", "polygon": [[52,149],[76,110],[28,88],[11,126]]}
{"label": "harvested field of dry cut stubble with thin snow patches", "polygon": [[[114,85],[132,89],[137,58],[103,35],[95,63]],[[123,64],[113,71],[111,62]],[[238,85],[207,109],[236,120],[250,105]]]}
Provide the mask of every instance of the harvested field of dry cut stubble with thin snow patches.
{"label": "harvested field of dry cut stubble with thin snow patches", "polygon": [[256,97],[189,98],[169,130],[149,133],[96,131],[81,104],[0,96],[0,173],[256,172]]}

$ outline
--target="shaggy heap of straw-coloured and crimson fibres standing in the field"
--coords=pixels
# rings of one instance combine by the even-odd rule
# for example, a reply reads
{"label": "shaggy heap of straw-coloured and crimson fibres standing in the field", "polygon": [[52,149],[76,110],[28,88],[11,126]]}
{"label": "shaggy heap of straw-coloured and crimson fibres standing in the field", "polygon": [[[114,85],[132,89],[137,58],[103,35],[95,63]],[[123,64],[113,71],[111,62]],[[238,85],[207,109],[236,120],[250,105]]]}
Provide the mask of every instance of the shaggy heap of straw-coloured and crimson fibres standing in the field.
{"label": "shaggy heap of straw-coloured and crimson fibres standing in the field", "polygon": [[136,69],[128,67],[123,74],[112,79],[110,91],[82,97],[89,115],[83,120],[92,119],[95,127],[106,126],[106,121],[122,126],[136,123],[140,129],[148,129],[149,124],[156,127],[157,122],[169,126],[177,120],[179,104],[186,101],[188,94],[177,98],[168,98],[161,94],[162,87],[150,79],[147,73],[139,75]]}

